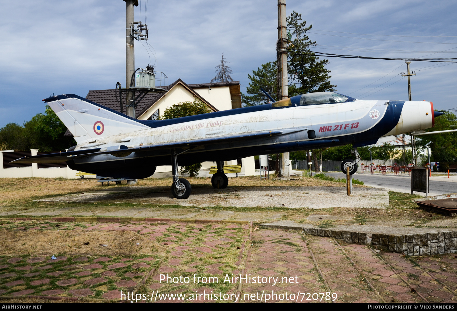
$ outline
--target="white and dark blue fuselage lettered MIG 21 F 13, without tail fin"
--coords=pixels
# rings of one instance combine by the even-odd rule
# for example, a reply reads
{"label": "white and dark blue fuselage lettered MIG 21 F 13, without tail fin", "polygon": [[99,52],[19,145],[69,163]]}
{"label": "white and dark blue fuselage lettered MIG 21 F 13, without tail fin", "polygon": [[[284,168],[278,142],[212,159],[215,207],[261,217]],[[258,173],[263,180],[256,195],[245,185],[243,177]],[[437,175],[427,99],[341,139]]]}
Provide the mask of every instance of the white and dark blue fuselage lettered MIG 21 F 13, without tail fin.
{"label": "white and dark blue fuselage lettered MIG 21 F 13, without tail fin", "polygon": [[[278,107],[226,116],[218,116],[218,114],[208,113],[205,115],[207,118],[188,122],[185,121],[186,118],[182,118],[184,122],[181,123],[103,137],[97,139],[95,143],[86,142],[77,145],[75,150],[98,146],[103,151],[103,148],[121,144],[128,147],[138,145],[147,147],[176,141],[214,138],[214,143],[206,142],[179,157],[180,165],[189,165],[202,161],[233,160],[252,155],[348,143],[355,146],[374,144],[379,137],[387,134],[409,133],[412,130],[432,127],[433,111],[430,102],[356,100]],[[109,130],[108,126],[105,128]],[[282,130],[283,134],[229,143],[218,142],[218,137],[226,135],[272,130]],[[315,139],[308,138],[308,130],[315,131]],[[127,165],[135,159],[144,158],[149,158],[154,166],[170,165],[170,149],[132,152],[122,159],[110,154],[88,155],[74,159],[74,165],[82,171],[87,171],[83,169],[87,165],[94,168],[110,167],[114,165],[113,162],[124,162]]]}

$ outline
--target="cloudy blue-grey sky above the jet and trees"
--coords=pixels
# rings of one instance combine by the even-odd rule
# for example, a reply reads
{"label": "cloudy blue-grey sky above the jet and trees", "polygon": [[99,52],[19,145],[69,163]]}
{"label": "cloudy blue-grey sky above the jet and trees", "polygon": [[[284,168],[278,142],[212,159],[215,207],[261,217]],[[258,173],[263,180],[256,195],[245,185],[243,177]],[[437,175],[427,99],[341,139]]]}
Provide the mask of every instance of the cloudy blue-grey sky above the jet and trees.
{"label": "cloudy blue-grey sky above the jet and trees", "polygon": [[[146,3],[147,2],[147,3]],[[125,2],[1,0],[0,126],[44,112],[43,98],[125,85]],[[135,65],[151,64],[186,83],[209,82],[224,53],[240,80],[276,58],[277,2],[140,0],[149,47],[135,43]],[[146,9],[147,4],[147,9]],[[140,12],[141,10],[141,12]],[[457,2],[287,0],[287,14],[313,25],[314,51],[388,58],[456,58]],[[149,54],[148,54],[149,52]],[[427,56],[430,55],[430,56]],[[404,61],[329,58],[338,91],[361,99],[408,99]],[[457,64],[413,61],[413,100],[457,107]]]}

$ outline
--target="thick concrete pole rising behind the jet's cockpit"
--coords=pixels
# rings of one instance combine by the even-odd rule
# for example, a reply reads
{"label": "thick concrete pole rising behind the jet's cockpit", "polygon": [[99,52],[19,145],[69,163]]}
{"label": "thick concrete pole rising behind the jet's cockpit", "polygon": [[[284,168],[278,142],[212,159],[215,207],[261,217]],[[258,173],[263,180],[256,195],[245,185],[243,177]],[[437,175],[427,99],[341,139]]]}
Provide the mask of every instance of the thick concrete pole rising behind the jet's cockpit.
{"label": "thick concrete pole rising behind the jet's cockpit", "polygon": [[[286,0],[278,0],[278,41],[276,43],[278,63],[278,87],[281,99],[289,97],[287,77],[287,21]],[[279,176],[289,177],[289,153],[280,156]]]}

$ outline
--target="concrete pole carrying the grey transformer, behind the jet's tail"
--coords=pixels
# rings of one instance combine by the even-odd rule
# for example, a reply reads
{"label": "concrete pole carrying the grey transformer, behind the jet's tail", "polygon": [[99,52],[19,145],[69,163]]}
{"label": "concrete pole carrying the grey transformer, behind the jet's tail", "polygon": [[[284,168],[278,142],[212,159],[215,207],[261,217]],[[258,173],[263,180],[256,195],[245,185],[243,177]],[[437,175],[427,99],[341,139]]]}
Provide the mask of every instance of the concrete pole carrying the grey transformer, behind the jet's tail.
{"label": "concrete pole carrying the grey transformer, behind the jet's tail", "polygon": [[[138,6],[138,0],[124,0],[126,2],[125,16],[125,43],[126,43],[126,62],[125,62],[125,85],[130,88],[132,83],[132,74],[135,71],[135,44],[132,36],[133,27],[133,5]],[[135,107],[128,107],[133,102],[134,92],[127,92],[126,114],[129,117],[136,118]]]}

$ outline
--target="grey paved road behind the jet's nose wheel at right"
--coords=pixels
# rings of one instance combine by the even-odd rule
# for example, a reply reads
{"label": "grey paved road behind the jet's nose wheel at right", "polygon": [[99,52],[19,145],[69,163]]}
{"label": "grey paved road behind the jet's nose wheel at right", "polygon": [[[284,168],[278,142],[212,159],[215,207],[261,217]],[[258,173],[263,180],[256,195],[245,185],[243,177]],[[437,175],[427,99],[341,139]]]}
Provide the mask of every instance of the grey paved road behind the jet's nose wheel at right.
{"label": "grey paved road behind the jet's nose wheel at right", "polygon": [[[333,177],[345,178],[343,173],[325,173]],[[361,180],[367,186],[376,188],[387,188],[392,191],[411,193],[411,178],[405,175],[381,175],[381,174],[356,174],[353,178]],[[457,193],[457,176],[452,178],[430,177],[430,195],[440,195],[446,193]],[[415,192],[415,194],[425,195],[425,193]]]}

